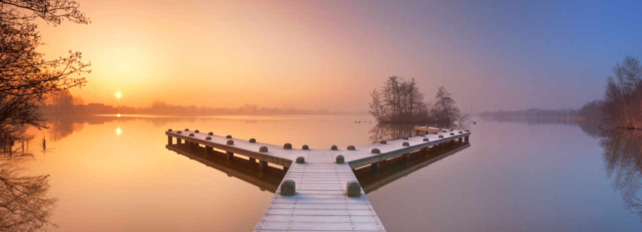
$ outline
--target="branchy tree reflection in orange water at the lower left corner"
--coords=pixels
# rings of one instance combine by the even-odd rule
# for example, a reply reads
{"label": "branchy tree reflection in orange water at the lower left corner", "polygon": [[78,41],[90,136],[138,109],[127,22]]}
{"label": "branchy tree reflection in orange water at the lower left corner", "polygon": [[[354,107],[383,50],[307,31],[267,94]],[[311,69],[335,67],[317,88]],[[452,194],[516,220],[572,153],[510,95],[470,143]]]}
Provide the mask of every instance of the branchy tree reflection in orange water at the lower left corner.
{"label": "branchy tree reflection in orange water at the lower left corner", "polygon": [[48,196],[49,175],[22,175],[24,163],[29,160],[33,160],[33,154],[18,142],[0,153],[0,231],[37,231],[49,224],[56,226],[49,222],[56,203]]}

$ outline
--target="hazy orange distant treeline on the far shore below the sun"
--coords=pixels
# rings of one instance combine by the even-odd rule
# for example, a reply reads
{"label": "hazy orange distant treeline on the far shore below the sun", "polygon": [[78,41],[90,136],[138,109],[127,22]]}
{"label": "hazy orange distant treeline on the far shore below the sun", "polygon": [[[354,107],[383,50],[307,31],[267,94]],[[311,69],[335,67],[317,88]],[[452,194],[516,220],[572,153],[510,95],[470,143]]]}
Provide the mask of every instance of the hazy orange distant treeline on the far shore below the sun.
{"label": "hazy orange distant treeline on the far shore below the sun", "polygon": [[[51,97],[50,103],[40,106],[44,114],[153,114],[153,115],[327,115],[347,114],[352,112],[336,112],[330,110],[299,110],[293,108],[265,108],[245,104],[239,108],[213,108],[205,106],[178,106],[155,101],[150,107],[110,106],[101,103],[83,104],[79,97],[73,97],[66,92],[60,92]],[[358,112],[356,112],[358,113]]]}

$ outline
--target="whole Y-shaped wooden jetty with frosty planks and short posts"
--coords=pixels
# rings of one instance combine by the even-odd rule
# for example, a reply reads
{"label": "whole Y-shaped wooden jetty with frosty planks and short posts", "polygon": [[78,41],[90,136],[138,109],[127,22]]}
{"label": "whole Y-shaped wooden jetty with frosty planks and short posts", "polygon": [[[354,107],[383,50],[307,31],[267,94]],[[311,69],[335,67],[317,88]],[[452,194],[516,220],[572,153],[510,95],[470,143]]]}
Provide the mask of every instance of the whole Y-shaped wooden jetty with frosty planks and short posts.
{"label": "whole Y-shaped wooden jetty with frosty planks and short posts", "polygon": [[248,169],[256,167],[259,173],[270,172],[277,165],[285,172],[254,231],[385,231],[354,171],[369,168],[380,172],[381,165],[392,160],[408,163],[412,156],[460,148],[469,144],[471,134],[428,126],[417,126],[415,131],[415,137],[345,149],[335,145],[327,149],[303,145],[296,149],[291,144],[265,144],[254,138],[245,140],[189,129],[169,129],[165,134],[166,147],[177,153],[216,156],[225,165],[247,163]]}

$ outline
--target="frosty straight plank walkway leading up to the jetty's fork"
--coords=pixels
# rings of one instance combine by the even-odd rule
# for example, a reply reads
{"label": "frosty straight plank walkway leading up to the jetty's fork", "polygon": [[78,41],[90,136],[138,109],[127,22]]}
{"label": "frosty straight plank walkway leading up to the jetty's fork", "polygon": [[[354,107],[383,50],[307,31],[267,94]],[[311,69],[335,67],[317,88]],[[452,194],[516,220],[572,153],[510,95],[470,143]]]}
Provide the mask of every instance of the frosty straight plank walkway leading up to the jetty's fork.
{"label": "frosty straight plank walkway leading up to the jetty's fork", "polygon": [[292,163],[283,178],[295,181],[297,194],[282,196],[279,187],[254,231],[385,231],[363,190],[345,195],[357,179],[347,163],[334,163],[338,154],[305,151],[306,163]]}

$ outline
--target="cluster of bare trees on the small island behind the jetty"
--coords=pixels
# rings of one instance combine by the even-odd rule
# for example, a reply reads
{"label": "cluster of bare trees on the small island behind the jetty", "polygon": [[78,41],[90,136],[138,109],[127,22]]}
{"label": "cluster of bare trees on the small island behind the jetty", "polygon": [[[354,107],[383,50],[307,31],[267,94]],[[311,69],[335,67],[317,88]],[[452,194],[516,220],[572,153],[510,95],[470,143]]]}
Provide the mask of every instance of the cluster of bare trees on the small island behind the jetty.
{"label": "cluster of bare trees on the small island behind the jetty", "polygon": [[424,103],[417,80],[390,76],[370,94],[370,114],[379,122],[445,122],[460,119],[459,109],[446,88],[438,88],[435,105]]}

